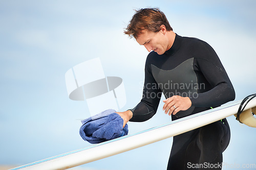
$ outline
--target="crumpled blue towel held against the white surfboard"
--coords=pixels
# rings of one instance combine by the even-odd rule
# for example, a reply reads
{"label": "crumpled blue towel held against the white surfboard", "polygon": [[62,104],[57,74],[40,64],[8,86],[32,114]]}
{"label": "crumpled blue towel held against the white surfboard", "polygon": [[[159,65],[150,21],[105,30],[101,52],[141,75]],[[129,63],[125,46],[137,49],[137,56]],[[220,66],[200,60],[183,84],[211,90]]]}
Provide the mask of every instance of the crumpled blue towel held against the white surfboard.
{"label": "crumpled blue towel held against the white surfboard", "polygon": [[123,128],[123,119],[113,109],[82,120],[80,136],[90,143],[100,143],[128,134],[128,125]]}

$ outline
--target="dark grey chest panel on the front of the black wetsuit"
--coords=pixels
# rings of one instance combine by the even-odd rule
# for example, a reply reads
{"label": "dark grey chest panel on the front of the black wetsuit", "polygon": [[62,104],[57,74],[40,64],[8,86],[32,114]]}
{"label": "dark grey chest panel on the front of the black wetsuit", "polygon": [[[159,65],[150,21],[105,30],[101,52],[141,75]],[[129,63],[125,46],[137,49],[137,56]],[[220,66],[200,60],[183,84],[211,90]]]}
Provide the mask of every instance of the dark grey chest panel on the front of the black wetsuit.
{"label": "dark grey chest panel on the front of the black wetsuit", "polygon": [[[171,70],[163,70],[151,64],[152,75],[165,98],[170,98],[173,95],[197,96],[198,83],[193,62],[194,58],[190,58]],[[187,116],[193,112],[194,108],[190,107],[188,110],[179,111],[176,116]]]}

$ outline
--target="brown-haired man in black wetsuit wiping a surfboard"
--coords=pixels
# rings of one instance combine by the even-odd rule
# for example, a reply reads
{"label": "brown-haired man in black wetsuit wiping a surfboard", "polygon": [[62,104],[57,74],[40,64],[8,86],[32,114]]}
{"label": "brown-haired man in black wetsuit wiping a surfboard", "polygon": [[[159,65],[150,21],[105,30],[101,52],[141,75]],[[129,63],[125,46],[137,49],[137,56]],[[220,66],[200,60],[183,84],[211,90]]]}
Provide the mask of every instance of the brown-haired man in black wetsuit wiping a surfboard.
{"label": "brown-haired man in black wetsuit wiping a surfboard", "polygon": [[[161,93],[172,120],[218,107],[235,93],[215,51],[206,42],[173,32],[159,9],[136,11],[125,34],[148,52],[141,102],[118,112],[128,122],[143,122],[157,111]],[[167,169],[221,169],[230,129],[226,119],[174,136]]]}

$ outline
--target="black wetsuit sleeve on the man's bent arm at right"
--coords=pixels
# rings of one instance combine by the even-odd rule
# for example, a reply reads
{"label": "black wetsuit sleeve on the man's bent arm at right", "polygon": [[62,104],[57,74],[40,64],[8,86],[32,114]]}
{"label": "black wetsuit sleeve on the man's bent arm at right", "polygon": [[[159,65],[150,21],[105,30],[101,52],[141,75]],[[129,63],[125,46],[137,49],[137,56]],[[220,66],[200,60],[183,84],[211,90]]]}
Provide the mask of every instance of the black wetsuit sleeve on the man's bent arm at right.
{"label": "black wetsuit sleeve on the man's bent arm at right", "polygon": [[[211,89],[201,84],[198,96],[190,98],[192,106],[216,107],[235,98],[233,86],[214,49],[204,41],[200,41],[202,49],[197,54],[195,66],[200,71],[198,79],[206,79]],[[205,81],[204,81],[205,82]],[[204,88],[204,89],[203,89]],[[207,90],[207,91],[205,91]]]}

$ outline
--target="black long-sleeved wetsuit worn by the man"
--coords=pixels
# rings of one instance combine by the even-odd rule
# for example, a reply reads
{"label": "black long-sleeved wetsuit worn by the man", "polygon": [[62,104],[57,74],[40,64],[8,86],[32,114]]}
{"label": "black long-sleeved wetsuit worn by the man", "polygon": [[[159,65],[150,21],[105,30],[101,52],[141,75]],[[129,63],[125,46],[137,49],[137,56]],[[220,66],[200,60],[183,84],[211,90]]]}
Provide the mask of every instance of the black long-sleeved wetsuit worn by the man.
{"label": "black long-sleeved wetsuit worn by the man", "polygon": [[[150,119],[157,111],[161,93],[166,99],[180,95],[191,100],[191,107],[172,114],[172,120],[218,107],[234,100],[235,96],[226,71],[212,47],[202,40],[177,34],[174,44],[163,55],[156,52],[148,54],[142,100],[131,109],[133,117],[130,121]],[[226,119],[174,136],[167,169],[200,169],[197,167],[204,162],[221,163],[222,152],[229,139]],[[205,163],[203,167],[206,166],[210,169],[209,164]]]}

